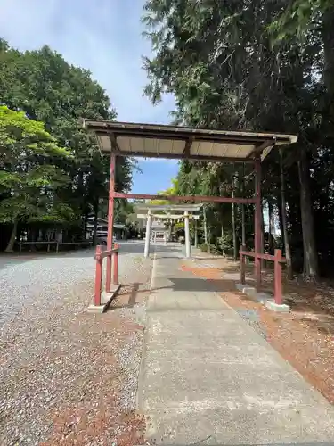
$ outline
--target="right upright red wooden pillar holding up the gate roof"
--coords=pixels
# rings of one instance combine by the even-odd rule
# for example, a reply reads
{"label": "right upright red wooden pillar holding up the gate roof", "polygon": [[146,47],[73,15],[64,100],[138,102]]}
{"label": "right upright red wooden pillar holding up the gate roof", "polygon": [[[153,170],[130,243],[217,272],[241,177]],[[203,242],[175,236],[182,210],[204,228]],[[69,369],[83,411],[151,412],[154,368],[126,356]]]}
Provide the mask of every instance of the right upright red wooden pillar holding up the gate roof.
{"label": "right upright red wooden pillar holding up the gate roof", "polygon": [[257,156],[255,159],[255,279],[257,291],[261,285],[261,259],[257,258],[257,254],[261,253],[261,158]]}

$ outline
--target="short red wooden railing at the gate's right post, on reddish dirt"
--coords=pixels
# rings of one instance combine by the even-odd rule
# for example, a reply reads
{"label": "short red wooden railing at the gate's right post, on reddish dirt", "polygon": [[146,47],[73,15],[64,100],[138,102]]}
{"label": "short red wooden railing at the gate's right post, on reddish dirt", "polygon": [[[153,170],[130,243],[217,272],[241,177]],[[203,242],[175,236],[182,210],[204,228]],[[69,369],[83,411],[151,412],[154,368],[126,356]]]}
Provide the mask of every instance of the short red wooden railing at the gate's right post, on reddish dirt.
{"label": "short red wooden railing at the gate's right post, on reddish dirt", "polygon": [[[271,254],[256,254],[255,252],[245,251],[244,248],[241,247],[240,250],[240,281],[242,285],[246,284],[246,257],[252,257],[256,261],[257,260],[269,260],[273,261],[273,296],[275,303],[277,305],[281,305],[283,302],[282,296],[282,285],[281,285],[281,265],[285,263],[286,260],[281,256],[281,250],[275,250],[274,255]],[[261,286],[261,276],[256,277],[256,289],[259,291]]]}

